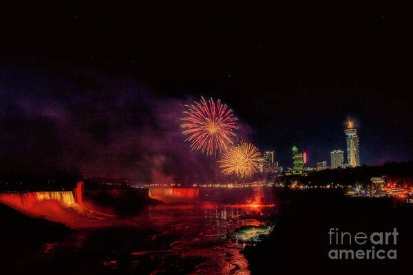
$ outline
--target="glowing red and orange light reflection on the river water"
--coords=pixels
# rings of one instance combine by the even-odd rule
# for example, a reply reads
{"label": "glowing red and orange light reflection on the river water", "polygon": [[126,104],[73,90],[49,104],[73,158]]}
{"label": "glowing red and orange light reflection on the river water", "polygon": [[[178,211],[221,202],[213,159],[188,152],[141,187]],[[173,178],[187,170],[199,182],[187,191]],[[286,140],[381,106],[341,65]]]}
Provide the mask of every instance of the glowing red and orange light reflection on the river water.
{"label": "glowing red and orange light reflection on the river water", "polygon": [[171,254],[179,254],[182,259],[190,259],[189,262],[202,259],[202,263],[193,267],[191,274],[250,274],[248,262],[240,254],[243,246],[226,239],[226,235],[242,225],[260,225],[257,219],[242,217],[254,213],[253,210],[211,204],[153,206],[147,218],[154,229],[161,232],[151,238],[173,236],[170,250],[140,251],[134,255],[139,258],[149,254],[150,261],[158,261]]}

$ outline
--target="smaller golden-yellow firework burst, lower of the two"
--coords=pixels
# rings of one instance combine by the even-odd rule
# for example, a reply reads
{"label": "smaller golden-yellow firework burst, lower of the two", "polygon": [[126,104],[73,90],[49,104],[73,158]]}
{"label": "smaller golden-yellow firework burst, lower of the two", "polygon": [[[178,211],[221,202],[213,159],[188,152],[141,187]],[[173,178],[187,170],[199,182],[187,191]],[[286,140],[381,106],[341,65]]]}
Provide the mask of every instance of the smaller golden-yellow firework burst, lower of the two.
{"label": "smaller golden-yellow firework burst, lower of the two", "polygon": [[224,175],[251,177],[260,167],[260,151],[254,144],[240,142],[222,155],[218,162]]}

